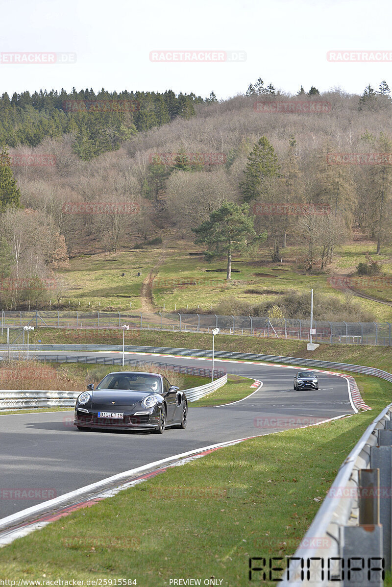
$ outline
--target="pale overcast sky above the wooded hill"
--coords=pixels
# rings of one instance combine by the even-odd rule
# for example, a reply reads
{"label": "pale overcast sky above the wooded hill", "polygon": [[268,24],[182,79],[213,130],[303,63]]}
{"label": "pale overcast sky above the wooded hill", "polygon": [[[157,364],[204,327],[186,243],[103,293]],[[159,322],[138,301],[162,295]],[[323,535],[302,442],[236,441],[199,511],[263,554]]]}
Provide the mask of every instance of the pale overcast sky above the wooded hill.
{"label": "pale overcast sky above the wooded hill", "polygon": [[[75,86],[172,89],[202,97],[214,90],[226,98],[244,93],[259,76],[292,93],[301,84],[305,90],[341,86],[361,93],[368,83],[377,89],[383,79],[392,87],[388,0],[2,0],[0,5],[5,53],[0,93]],[[198,60],[151,60],[151,52],[172,59],[174,50],[197,52]],[[218,60],[202,62],[212,50]],[[333,50],[383,50],[391,58],[336,63],[327,60]],[[232,51],[238,53],[227,53]],[[18,57],[9,53],[23,52],[63,53],[63,59],[76,62],[13,64]],[[237,62],[228,61],[235,57]]]}

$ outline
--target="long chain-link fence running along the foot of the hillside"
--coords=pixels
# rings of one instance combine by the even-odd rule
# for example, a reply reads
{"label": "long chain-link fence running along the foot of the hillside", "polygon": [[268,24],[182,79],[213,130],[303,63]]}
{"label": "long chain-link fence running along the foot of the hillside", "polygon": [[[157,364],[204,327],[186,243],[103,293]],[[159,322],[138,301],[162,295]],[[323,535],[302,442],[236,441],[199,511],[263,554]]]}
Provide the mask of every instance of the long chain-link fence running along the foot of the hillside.
{"label": "long chain-link fence running along the foot of the hillside", "polygon": [[[23,326],[46,328],[119,329],[127,324],[133,329],[211,332],[219,328],[224,334],[265,338],[309,340],[310,319],[270,319],[265,316],[220,316],[215,314],[143,313],[143,312],[8,312],[2,311],[4,329],[17,329],[8,335],[11,343],[25,342]],[[313,320],[312,342],[350,345],[391,345],[389,322],[326,322]]]}

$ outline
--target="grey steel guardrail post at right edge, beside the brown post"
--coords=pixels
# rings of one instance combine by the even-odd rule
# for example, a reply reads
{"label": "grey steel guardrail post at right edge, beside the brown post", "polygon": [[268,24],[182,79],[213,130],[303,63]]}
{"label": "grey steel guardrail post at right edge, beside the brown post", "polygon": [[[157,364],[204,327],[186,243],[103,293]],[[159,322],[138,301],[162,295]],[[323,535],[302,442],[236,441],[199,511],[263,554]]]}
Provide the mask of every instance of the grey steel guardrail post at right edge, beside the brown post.
{"label": "grey steel guardrail post at right edge, beside the brown post", "polygon": [[[380,471],[380,519],[383,522],[383,549],[386,569],[391,568],[392,550],[391,550],[391,514],[392,514],[392,447],[390,446],[371,446],[370,447],[370,467]],[[360,524],[361,522],[360,517]]]}

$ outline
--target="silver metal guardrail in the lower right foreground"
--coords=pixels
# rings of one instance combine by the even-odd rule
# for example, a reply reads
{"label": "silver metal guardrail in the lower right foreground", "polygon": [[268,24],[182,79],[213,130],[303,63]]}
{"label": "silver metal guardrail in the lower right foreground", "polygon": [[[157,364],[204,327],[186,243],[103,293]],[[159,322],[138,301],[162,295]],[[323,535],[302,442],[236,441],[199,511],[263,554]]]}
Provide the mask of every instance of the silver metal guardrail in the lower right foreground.
{"label": "silver metal guardrail in the lower right foreground", "polygon": [[[391,444],[389,404],[340,467],[301,545],[284,565],[282,586],[383,585],[381,572],[369,569],[380,568],[383,558],[385,570],[391,569]],[[369,484],[371,475],[376,482]],[[259,576],[254,573],[254,579]]]}

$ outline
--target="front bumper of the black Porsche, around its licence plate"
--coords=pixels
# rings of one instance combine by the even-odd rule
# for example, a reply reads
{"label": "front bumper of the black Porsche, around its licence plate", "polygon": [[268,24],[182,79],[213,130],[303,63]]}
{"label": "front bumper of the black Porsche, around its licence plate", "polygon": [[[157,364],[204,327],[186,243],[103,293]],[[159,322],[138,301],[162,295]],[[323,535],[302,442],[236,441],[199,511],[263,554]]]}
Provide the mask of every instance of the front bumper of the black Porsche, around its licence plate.
{"label": "front bumper of the black Porsche, around its licence plate", "polygon": [[76,408],[73,425],[106,430],[151,430],[159,428],[159,410],[124,411],[122,419],[98,417],[99,411],[106,411],[107,409],[107,406],[94,407],[88,410],[86,408]]}

